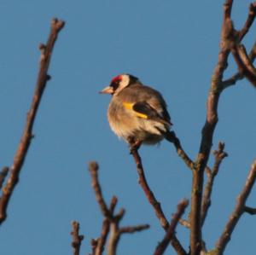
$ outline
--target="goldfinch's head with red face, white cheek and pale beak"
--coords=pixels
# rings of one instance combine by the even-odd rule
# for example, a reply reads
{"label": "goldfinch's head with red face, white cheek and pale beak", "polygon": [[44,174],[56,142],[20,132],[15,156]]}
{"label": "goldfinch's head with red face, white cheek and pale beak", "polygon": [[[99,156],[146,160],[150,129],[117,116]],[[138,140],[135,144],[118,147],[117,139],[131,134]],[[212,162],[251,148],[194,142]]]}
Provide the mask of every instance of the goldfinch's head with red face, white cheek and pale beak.
{"label": "goldfinch's head with red face, white cheek and pale beak", "polygon": [[138,82],[138,78],[131,74],[120,74],[114,77],[108,87],[104,88],[100,93],[111,94],[112,96],[119,94],[119,92],[125,89],[127,86]]}

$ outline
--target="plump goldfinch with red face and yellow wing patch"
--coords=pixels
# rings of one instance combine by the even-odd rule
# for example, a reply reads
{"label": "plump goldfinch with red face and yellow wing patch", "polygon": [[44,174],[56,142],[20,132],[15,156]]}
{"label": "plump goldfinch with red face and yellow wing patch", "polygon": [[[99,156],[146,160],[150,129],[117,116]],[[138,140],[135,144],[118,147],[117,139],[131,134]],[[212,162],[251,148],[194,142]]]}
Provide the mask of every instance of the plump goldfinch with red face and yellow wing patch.
{"label": "plump goldfinch with red face and yellow wing patch", "polygon": [[112,96],[108,123],[113,132],[130,145],[131,151],[142,144],[154,145],[164,138],[169,140],[171,117],[158,90],[124,73],[114,77],[100,93]]}

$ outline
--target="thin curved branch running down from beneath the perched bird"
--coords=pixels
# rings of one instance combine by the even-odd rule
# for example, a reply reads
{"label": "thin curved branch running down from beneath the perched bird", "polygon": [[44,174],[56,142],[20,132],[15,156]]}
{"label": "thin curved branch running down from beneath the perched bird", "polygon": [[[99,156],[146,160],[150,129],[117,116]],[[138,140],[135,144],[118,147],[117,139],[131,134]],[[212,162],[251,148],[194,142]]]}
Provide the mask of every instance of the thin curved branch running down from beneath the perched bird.
{"label": "thin curved branch running down from beneath the perched bird", "polygon": [[[135,164],[137,165],[137,173],[138,173],[138,176],[139,176],[139,184],[143,188],[143,191],[146,194],[148,202],[151,204],[151,206],[153,206],[155,215],[160,220],[160,224],[161,224],[162,228],[167,231],[169,229],[169,223],[167,222],[166,216],[165,216],[164,212],[162,211],[162,208],[160,206],[160,202],[155,199],[154,193],[152,192],[152,190],[148,186],[148,182],[147,182],[147,179],[145,177],[144,170],[143,170],[142,159],[141,159],[140,155],[138,154],[137,149],[132,149],[131,154],[133,156]],[[178,255],[187,254],[187,252],[184,250],[183,246],[177,240],[177,237],[175,235],[173,235],[171,243],[172,243],[172,246],[176,250]]]}

